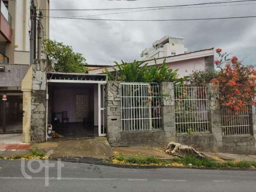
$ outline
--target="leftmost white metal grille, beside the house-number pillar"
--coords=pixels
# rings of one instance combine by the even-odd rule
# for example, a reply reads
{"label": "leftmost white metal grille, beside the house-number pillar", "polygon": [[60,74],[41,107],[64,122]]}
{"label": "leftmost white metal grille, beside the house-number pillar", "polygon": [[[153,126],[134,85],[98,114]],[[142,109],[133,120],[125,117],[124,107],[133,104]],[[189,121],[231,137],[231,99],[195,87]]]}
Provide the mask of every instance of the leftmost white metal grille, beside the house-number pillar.
{"label": "leftmost white metal grille, beside the house-number pillar", "polygon": [[122,131],[161,129],[158,84],[121,83]]}

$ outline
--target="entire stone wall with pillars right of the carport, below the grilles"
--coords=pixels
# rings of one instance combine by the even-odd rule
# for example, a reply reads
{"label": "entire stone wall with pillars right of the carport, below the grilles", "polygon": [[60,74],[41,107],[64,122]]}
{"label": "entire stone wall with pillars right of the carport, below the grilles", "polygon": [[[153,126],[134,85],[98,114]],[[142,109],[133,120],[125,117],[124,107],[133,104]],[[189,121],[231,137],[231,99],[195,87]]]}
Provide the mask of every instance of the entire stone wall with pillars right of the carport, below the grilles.
{"label": "entire stone wall with pillars right of the carport, below the grilles", "polygon": [[218,86],[207,85],[209,133],[175,134],[174,85],[160,83],[161,130],[121,131],[121,109],[118,82],[108,81],[106,88],[106,128],[111,146],[158,146],[174,141],[201,151],[255,154],[256,110],[252,109],[251,135],[222,136],[221,106]]}

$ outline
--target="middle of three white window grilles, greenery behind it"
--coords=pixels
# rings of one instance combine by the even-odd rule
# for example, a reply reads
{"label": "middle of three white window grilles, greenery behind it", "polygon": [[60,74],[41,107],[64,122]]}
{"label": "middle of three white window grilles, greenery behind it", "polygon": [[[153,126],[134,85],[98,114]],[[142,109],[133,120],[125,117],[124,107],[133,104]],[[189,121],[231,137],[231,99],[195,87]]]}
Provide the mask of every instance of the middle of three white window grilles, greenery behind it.
{"label": "middle of three white window grilles, greenery behind it", "polygon": [[209,132],[206,87],[174,87],[176,134]]}

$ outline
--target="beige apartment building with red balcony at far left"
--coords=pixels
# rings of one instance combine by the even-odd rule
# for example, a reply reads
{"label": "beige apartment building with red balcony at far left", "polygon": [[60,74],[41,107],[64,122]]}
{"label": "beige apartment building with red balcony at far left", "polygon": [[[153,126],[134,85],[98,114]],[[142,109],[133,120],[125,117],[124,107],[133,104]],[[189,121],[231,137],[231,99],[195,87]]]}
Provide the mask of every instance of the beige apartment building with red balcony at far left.
{"label": "beige apartment building with red balcony at far left", "polygon": [[[35,6],[49,9],[49,0],[37,0]],[[44,10],[43,16],[49,11]],[[48,38],[48,17],[42,26]],[[0,133],[22,132],[21,83],[29,66],[30,0],[0,0]]]}

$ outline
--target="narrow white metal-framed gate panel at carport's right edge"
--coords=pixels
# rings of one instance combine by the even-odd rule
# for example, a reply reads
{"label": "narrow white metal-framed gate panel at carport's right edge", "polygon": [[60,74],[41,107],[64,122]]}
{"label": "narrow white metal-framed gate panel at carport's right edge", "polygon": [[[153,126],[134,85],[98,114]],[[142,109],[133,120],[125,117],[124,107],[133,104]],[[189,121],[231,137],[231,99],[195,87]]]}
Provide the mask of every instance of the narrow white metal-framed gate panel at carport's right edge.
{"label": "narrow white metal-framed gate panel at carport's right edge", "polygon": [[106,136],[106,97],[105,97],[106,84],[98,84],[98,130],[99,136]]}

